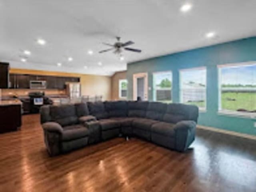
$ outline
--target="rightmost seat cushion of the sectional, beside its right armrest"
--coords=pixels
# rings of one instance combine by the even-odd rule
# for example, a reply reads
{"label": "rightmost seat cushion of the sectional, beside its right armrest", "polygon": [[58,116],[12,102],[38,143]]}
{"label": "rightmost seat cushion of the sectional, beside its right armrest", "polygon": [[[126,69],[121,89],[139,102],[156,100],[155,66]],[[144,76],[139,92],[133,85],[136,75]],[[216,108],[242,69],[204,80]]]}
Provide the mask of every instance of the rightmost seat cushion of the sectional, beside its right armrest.
{"label": "rightmost seat cushion of the sectional, beside its right armrest", "polygon": [[168,137],[174,137],[175,135],[174,124],[166,123],[166,122],[158,122],[152,125],[151,132],[168,136]]}

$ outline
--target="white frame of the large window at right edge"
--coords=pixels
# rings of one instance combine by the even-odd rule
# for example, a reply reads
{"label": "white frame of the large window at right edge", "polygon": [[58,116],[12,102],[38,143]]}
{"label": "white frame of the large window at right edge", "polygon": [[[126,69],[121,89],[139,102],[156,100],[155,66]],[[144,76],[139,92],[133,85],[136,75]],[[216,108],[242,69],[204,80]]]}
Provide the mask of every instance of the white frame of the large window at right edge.
{"label": "white frame of the large window at right edge", "polygon": [[240,66],[246,67],[246,66],[252,66],[252,65],[256,65],[256,61],[241,62],[241,63],[227,63],[227,64],[217,65],[217,68],[218,68],[218,114],[219,115],[228,115],[228,116],[234,116],[234,117],[256,119],[256,114],[254,114],[254,113],[222,109],[222,96],[221,96],[221,94],[222,94],[221,69],[222,68],[228,68],[228,67],[230,67],[230,68],[240,67]]}

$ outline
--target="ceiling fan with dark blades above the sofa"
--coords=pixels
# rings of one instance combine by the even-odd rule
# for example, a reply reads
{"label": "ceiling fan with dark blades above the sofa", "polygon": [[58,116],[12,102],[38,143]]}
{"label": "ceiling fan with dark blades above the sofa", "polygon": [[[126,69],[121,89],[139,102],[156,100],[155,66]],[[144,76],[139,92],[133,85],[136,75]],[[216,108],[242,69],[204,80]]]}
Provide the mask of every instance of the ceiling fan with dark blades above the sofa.
{"label": "ceiling fan with dark blades above the sofa", "polygon": [[127,46],[134,44],[134,42],[128,41],[128,42],[122,43],[122,42],[120,42],[120,37],[116,37],[116,39],[117,39],[117,42],[114,44],[102,43],[104,45],[111,46],[112,48],[102,50],[99,53],[104,53],[104,52],[111,51],[111,50],[114,50],[115,54],[121,54],[123,50],[133,51],[133,52],[138,52],[138,53],[141,52],[141,50],[139,50],[139,49],[127,47]]}

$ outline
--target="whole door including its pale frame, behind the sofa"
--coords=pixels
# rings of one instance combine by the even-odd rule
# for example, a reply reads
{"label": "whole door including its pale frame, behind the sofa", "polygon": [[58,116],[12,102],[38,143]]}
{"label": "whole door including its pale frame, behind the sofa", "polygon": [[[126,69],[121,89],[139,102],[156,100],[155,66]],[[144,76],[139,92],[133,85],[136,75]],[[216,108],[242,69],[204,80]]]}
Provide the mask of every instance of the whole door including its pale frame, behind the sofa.
{"label": "whole door including its pale frame, behind the sofa", "polygon": [[148,73],[133,75],[133,100],[140,97],[142,101],[148,100]]}

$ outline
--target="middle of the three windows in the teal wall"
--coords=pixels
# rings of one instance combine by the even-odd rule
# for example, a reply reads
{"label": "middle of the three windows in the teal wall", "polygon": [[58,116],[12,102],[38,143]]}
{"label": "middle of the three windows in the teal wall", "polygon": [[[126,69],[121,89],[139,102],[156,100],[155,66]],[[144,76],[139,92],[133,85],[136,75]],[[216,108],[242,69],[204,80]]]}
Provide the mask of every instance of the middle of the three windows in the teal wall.
{"label": "middle of the three windows in the teal wall", "polygon": [[180,101],[206,109],[206,68],[180,70]]}

